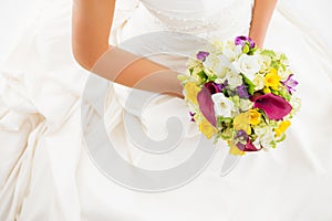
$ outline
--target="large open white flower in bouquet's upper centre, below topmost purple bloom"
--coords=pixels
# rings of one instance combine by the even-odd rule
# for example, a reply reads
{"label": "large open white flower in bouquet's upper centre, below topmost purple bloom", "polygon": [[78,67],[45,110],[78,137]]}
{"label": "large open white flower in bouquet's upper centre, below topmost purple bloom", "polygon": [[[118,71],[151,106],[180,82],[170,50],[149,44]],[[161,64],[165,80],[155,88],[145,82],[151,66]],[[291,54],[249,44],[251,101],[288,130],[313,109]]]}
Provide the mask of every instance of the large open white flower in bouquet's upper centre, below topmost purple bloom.
{"label": "large open white flower in bouquet's upper centre, below topmost purple bloom", "polygon": [[235,69],[245,74],[250,81],[253,81],[255,74],[259,72],[259,56],[242,54],[236,62],[234,62]]}

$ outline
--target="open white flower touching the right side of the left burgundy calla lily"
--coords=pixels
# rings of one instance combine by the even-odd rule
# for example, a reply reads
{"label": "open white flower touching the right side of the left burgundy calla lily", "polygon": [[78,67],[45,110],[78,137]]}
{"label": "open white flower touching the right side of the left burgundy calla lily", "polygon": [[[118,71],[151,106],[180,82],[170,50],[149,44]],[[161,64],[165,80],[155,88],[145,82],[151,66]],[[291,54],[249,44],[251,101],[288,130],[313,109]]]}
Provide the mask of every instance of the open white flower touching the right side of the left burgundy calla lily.
{"label": "open white flower touching the right side of the left burgundy calla lily", "polygon": [[214,108],[217,116],[231,117],[235,105],[229,98],[222,93],[212,94],[211,98],[215,103]]}

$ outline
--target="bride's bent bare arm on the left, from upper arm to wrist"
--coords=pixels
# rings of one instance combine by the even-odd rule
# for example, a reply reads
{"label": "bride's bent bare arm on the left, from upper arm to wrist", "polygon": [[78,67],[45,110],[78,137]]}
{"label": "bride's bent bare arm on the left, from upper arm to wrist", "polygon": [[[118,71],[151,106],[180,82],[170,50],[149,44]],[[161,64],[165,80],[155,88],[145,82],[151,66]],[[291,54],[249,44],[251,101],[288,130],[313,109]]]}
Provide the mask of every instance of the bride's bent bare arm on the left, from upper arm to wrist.
{"label": "bride's bent bare arm on the left, from upper arm to wrist", "polygon": [[[74,0],[72,21],[72,45],[75,60],[86,70],[103,56],[103,65],[96,74],[116,83],[183,97],[183,87],[176,72],[139,57],[127,51],[108,45],[110,30],[113,21],[115,0]],[[106,61],[105,61],[106,60]],[[118,65],[131,63],[121,69]],[[94,71],[94,70],[93,70]],[[154,74],[160,73],[160,74]],[[136,85],[145,81],[144,84]]]}

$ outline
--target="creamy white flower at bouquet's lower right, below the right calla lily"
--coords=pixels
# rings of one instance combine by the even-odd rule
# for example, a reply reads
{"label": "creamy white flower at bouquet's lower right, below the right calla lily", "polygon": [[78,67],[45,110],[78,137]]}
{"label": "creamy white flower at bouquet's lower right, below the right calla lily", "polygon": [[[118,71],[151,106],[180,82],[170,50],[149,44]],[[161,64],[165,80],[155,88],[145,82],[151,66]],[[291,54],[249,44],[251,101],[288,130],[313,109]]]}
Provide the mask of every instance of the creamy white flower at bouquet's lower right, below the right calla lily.
{"label": "creamy white flower at bouquet's lower right, below the right calla lily", "polygon": [[256,140],[253,141],[253,145],[259,148],[260,145],[264,148],[272,147],[271,143],[274,140],[274,133],[271,127],[264,126],[264,127],[256,127],[255,134],[257,135]]}

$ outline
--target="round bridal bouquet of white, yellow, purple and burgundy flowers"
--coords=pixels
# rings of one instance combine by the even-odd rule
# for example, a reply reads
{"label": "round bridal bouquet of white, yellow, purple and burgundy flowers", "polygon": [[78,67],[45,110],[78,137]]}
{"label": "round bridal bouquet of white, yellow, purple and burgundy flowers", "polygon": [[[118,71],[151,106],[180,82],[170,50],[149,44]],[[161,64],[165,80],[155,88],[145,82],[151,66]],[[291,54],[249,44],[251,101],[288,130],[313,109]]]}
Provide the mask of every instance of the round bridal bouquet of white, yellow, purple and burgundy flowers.
{"label": "round bridal bouquet of white, yellow, purple and burgundy flowers", "polygon": [[287,56],[247,36],[199,51],[178,78],[191,120],[208,139],[227,140],[234,155],[276,148],[300,107]]}

